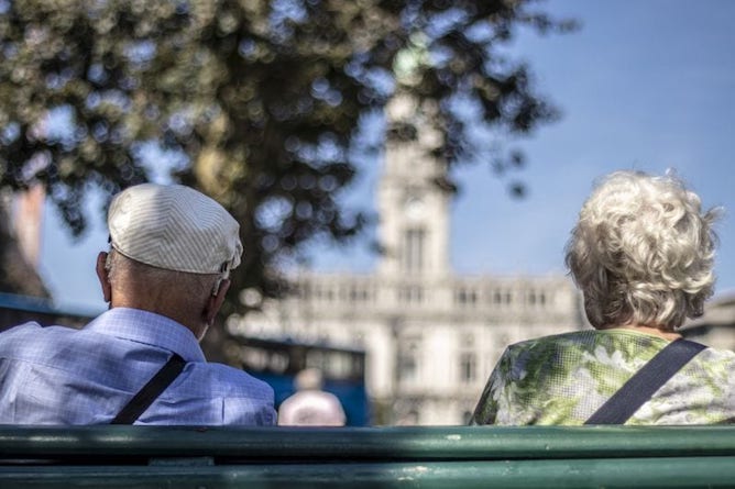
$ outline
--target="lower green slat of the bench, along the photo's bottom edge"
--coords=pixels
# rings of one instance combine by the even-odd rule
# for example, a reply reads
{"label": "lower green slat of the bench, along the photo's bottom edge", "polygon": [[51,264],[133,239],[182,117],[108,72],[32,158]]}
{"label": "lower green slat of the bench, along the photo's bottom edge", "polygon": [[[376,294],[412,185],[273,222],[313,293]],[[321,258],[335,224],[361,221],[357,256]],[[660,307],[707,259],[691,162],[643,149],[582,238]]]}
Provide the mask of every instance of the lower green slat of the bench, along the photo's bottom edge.
{"label": "lower green slat of the bench, along the photo's bottom edge", "polygon": [[24,488],[732,488],[735,457],[577,460],[2,467],[0,487]]}

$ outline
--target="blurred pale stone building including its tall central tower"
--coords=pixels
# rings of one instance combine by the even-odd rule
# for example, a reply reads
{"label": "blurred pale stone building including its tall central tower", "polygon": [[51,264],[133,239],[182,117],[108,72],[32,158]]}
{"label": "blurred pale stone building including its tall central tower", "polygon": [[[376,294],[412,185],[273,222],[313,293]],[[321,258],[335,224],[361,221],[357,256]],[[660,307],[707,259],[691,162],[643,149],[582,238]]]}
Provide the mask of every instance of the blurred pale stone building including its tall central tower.
{"label": "blurred pale stone building including its tall central tower", "polygon": [[[430,108],[388,107],[372,274],[301,271],[296,293],[230,321],[230,332],[364,348],[376,424],[463,424],[511,343],[583,327],[566,276],[458,276],[450,269],[452,193],[440,185]],[[409,123],[409,124],[408,124]],[[420,127],[406,137],[405,127]]]}

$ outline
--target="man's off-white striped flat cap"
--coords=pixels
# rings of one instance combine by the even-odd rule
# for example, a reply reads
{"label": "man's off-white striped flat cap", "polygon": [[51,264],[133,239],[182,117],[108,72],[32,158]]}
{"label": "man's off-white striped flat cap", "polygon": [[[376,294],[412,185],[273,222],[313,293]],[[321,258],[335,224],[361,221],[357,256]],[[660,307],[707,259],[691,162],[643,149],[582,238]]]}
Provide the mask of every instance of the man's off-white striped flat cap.
{"label": "man's off-white striped flat cap", "polygon": [[240,265],[240,225],[189,187],[130,187],[113,198],[107,224],[112,247],[146,265],[191,274],[227,274]]}

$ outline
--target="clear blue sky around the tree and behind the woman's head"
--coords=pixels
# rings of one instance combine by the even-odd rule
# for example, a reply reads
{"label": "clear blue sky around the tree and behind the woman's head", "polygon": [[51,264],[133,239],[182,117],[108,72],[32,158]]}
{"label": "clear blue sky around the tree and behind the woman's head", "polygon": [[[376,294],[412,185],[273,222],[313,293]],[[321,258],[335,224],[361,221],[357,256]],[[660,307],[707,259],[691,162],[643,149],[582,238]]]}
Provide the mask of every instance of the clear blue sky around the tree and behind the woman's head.
{"label": "clear blue sky around the tree and behind the woman's head", "polygon": [[[674,168],[705,207],[726,210],[717,227],[717,293],[735,290],[735,2],[728,0],[549,0],[539,9],[578,19],[571,34],[524,33],[514,46],[560,121],[514,142],[528,164],[514,177],[529,193],[511,199],[484,165],[458,174],[451,262],[460,274],[563,273],[563,246],[595,178],[619,168]],[[376,169],[350,201],[371,204]],[[73,243],[53,212],[44,225],[42,274],[58,303],[105,307],[94,274],[107,246],[101,220]],[[312,246],[320,269],[369,270],[364,244]]]}

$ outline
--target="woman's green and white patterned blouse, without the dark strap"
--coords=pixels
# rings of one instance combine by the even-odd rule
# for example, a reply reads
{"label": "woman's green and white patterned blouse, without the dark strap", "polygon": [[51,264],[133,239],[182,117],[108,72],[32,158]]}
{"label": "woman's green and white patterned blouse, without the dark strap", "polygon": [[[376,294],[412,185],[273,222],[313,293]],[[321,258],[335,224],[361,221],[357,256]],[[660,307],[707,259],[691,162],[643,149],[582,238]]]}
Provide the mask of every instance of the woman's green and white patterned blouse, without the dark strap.
{"label": "woman's green and white patterned blouse, without the dark strap", "polygon": [[[471,424],[583,424],[668,344],[633,330],[579,331],[511,345]],[[626,424],[735,421],[735,353],[706,348]]]}

